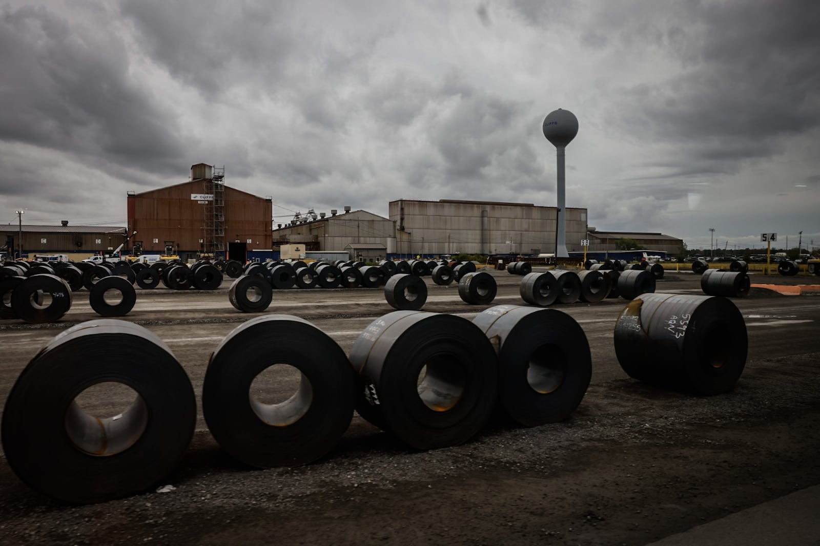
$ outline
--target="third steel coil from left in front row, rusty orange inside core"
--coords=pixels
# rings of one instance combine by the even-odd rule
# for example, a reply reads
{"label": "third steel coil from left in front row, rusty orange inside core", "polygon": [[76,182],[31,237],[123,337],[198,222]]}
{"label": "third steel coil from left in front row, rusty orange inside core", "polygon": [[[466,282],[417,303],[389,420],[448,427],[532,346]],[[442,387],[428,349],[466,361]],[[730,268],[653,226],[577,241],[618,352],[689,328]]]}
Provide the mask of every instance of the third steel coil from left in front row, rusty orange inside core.
{"label": "third steel coil from left in front row, rusty orange inside core", "polygon": [[349,358],[359,415],[414,448],[471,439],[498,396],[492,344],[460,316],[391,312],[367,326]]}

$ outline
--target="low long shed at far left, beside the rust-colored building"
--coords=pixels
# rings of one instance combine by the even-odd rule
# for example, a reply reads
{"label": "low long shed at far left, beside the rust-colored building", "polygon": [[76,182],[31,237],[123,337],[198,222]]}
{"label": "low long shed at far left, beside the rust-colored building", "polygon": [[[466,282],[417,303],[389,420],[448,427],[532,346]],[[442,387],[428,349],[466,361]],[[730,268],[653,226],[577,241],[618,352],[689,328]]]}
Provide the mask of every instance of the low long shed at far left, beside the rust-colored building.
{"label": "low long shed at far left, beside the rust-colored building", "polygon": [[[0,225],[0,247],[13,239],[16,256],[20,248],[20,226]],[[95,253],[107,253],[125,240],[125,227],[114,225],[23,225],[23,256],[34,254],[67,254],[71,259],[90,257]],[[10,241],[11,242],[11,241]]]}

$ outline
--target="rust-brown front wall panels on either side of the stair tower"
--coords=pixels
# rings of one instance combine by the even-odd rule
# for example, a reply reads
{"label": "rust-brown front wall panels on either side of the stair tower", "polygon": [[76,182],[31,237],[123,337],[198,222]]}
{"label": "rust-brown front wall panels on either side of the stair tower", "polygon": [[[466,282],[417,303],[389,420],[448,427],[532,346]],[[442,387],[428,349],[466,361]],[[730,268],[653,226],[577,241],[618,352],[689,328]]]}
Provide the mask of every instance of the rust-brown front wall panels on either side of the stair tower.
{"label": "rust-brown front wall panels on either side of the stair tower", "polygon": [[[165,241],[173,241],[179,253],[204,250],[208,207],[195,196],[206,190],[206,180],[192,180],[130,194],[128,231],[137,231],[134,240],[143,242],[143,252],[162,253]],[[248,248],[271,248],[270,199],[224,186],[224,200],[225,248],[235,242],[247,243]]]}

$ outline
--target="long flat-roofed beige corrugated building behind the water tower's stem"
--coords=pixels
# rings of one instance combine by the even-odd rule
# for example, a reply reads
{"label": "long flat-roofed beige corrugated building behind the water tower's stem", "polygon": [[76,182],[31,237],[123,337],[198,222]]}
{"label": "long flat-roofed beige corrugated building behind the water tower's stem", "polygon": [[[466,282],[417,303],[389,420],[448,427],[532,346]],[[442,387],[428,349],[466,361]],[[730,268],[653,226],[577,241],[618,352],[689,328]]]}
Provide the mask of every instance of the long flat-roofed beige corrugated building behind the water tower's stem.
{"label": "long flat-roofed beige corrugated building behind the water tower's stem", "polygon": [[[537,254],[555,252],[557,207],[531,203],[458,201],[389,202],[399,253]],[[586,209],[567,207],[567,250],[581,250]]]}

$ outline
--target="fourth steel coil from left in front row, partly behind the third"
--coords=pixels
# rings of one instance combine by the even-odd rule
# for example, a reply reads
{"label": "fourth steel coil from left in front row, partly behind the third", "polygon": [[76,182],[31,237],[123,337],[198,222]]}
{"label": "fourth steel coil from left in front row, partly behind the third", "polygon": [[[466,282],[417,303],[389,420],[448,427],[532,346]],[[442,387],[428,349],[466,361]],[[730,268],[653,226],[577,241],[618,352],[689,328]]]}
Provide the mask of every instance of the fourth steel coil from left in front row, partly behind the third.
{"label": "fourth steel coil from left in front row, partly behind the third", "polygon": [[556,309],[497,305],[472,320],[499,355],[499,400],[518,423],[566,419],[592,376],[590,344],[581,326]]}

